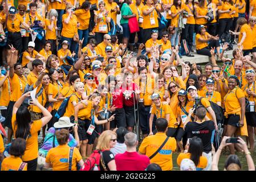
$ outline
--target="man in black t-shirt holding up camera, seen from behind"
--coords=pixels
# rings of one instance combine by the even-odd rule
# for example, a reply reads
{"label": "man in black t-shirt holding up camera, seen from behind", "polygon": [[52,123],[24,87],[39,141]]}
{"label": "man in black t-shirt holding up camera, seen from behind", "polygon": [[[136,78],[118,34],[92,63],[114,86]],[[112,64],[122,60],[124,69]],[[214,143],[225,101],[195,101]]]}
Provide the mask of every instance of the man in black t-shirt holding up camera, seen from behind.
{"label": "man in black t-shirt holding up camera, seen from behind", "polygon": [[[194,113],[196,110],[196,113]],[[188,138],[198,137],[202,139],[203,152],[202,155],[206,156],[208,159],[207,167],[205,171],[210,171],[212,168],[212,133],[214,131],[214,122],[211,120],[206,121],[206,109],[204,106],[200,105],[196,108],[192,107],[189,110],[188,118],[184,123],[183,129],[188,134]],[[194,113],[194,121],[189,122],[191,115]]]}

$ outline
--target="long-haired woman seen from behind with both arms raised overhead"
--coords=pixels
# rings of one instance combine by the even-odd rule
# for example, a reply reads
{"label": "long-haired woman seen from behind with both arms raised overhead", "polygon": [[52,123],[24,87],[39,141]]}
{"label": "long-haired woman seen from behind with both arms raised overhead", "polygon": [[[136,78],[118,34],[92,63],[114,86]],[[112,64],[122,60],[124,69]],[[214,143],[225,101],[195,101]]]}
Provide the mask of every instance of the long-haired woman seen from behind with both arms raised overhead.
{"label": "long-haired woman seen from behind with both arms raised overhead", "polygon": [[35,171],[38,157],[38,131],[46,125],[52,118],[51,113],[39,104],[38,100],[32,99],[32,105],[39,107],[44,115],[37,121],[31,121],[31,114],[26,106],[22,106],[25,98],[30,97],[30,92],[23,94],[13,106],[13,126],[14,137],[26,140],[26,151],[22,156],[23,162],[27,163],[28,171]]}

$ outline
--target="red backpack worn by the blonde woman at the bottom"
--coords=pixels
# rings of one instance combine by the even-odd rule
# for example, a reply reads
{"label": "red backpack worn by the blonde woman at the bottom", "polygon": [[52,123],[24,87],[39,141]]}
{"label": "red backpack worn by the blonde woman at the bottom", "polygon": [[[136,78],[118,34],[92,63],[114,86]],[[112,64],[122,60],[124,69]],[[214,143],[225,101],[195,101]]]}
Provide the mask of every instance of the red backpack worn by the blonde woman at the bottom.
{"label": "red backpack worn by the blonde woman at the bottom", "polygon": [[80,171],[100,171],[100,163],[101,166],[103,166],[104,171],[106,171],[107,169],[105,167],[102,151],[95,150],[90,157],[86,159]]}

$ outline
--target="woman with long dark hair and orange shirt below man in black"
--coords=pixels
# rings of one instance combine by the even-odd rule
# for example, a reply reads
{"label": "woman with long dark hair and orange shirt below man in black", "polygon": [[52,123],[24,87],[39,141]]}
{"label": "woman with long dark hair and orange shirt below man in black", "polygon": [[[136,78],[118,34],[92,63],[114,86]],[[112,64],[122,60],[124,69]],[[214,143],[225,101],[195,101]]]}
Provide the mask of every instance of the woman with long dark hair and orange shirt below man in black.
{"label": "woman with long dark hair and orange shirt below man in black", "polygon": [[194,162],[197,171],[202,171],[204,168],[206,168],[207,158],[202,156],[203,145],[201,138],[193,137],[189,140],[189,143],[186,146],[188,146],[188,153],[181,153],[178,155],[178,166],[180,166],[183,159],[191,159]]}

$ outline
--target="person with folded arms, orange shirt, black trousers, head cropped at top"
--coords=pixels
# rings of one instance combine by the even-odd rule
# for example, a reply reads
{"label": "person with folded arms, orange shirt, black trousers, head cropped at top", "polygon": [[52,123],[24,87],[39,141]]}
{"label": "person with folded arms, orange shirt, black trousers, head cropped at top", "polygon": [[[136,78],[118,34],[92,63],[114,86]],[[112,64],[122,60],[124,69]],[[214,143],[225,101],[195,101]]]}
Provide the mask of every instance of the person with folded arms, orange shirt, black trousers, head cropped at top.
{"label": "person with folded arms, orange shirt, black trousers, head cropped at top", "polygon": [[233,0],[224,0],[222,5],[218,6],[219,26],[218,36],[222,36],[224,32],[230,30],[233,22],[233,14],[235,14],[235,7]]}

